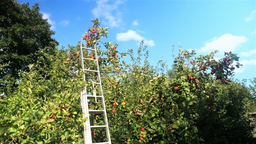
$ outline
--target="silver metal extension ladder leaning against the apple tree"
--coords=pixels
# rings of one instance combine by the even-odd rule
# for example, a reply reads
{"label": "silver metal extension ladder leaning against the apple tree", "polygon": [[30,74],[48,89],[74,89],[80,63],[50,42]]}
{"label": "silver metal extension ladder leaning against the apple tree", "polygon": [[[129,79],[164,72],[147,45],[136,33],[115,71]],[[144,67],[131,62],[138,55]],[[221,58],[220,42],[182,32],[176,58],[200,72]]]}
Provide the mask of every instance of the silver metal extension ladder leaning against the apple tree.
{"label": "silver metal extension ladder leaning against the apple tree", "polygon": [[80,91],[83,119],[86,119],[83,121],[84,143],[110,144],[96,46],[93,45],[93,48],[83,47],[80,41],[80,56],[83,81],[88,82]]}

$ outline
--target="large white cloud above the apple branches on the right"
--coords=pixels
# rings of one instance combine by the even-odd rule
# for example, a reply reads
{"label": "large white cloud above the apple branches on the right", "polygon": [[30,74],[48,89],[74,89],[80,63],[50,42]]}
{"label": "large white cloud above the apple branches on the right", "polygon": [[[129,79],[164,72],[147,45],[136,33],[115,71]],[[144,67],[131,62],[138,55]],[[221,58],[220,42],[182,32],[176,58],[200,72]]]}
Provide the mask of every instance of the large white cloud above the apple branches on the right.
{"label": "large white cloud above the apple branches on the right", "polygon": [[234,51],[241,43],[245,42],[245,36],[235,36],[232,34],[223,34],[220,37],[214,37],[209,42],[206,42],[203,47],[199,49],[201,52],[209,52],[218,50],[220,53]]}

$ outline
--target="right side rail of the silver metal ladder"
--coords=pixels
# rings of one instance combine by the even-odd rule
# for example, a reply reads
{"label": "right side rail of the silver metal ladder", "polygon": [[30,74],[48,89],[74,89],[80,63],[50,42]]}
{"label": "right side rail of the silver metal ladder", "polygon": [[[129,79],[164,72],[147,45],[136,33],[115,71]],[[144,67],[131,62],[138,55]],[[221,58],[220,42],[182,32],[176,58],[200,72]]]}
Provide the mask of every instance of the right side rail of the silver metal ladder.
{"label": "right side rail of the silver metal ladder", "polygon": [[95,44],[94,44],[94,49],[95,49],[94,52],[95,52],[95,59],[96,59],[97,71],[98,71],[98,83],[99,83],[100,92],[101,92],[101,95],[102,95],[102,107],[104,109],[104,114],[103,115],[104,115],[104,122],[105,122],[105,125],[106,125],[106,136],[107,136],[107,141],[109,141],[111,143],[109,127],[108,127],[108,121],[107,121],[107,115],[106,115],[105,100],[104,100],[104,96],[103,96],[103,89],[102,89],[101,78],[100,78],[97,50],[96,50],[96,45]]}

